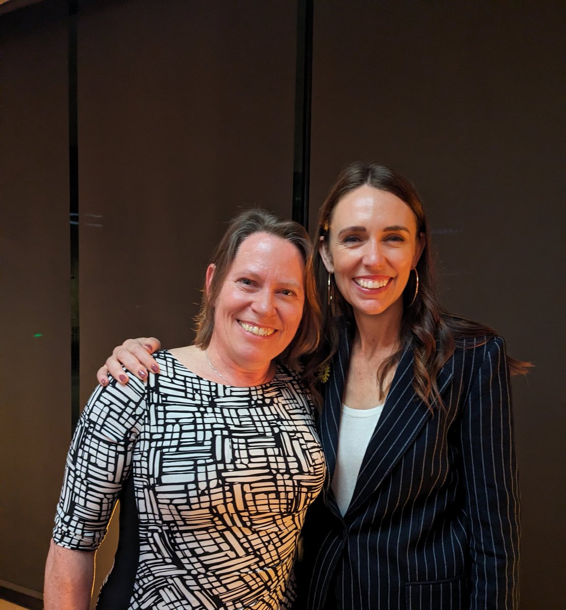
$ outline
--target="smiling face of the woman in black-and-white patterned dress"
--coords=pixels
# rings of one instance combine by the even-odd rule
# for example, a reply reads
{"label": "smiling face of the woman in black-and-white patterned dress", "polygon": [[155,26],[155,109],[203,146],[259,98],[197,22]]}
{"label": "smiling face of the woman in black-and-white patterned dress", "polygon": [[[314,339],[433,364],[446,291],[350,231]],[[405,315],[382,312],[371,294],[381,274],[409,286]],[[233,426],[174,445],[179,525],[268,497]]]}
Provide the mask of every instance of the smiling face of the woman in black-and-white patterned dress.
{"label": "smiling face of the woman in black-and-white patterned dress", "polygon": [[[206,271],[206,288],[214,276]],[[211,347],[225,365],[269,366],[295,336],[305,304],[305,263],[288,240],[264,232],[245,239],[214,303]]]}

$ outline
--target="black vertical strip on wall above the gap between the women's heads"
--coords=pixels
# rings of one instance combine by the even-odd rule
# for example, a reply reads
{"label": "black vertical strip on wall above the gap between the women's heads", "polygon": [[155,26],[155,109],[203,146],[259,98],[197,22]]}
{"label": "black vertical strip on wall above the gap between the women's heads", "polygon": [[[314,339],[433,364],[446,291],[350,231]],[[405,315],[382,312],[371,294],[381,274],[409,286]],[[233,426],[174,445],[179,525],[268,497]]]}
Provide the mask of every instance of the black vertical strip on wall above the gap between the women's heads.
{"label": "black vertical strip on wall above the gap between the women's heads", "polygon": [[293,220],[308,230],[313,82],[313,0],[297,0]]}

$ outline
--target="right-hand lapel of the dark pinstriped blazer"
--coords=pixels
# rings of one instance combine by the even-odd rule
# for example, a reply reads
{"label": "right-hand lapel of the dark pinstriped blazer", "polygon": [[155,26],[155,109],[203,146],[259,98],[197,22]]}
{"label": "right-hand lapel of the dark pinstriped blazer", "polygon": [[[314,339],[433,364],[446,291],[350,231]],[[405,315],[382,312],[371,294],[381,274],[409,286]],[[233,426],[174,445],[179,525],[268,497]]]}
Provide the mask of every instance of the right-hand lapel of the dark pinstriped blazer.
{"label": "right-hand lapel of the dark pinstriped blazer", "polygon": [[[358,481],[347,512],[355,511],[391,472],[431,417],[430,409],[413,390],[413,350],[405,347],[385,400],[383,412],[369,440]],[[449,363],[438,373],[440,393],[452,378]]]}

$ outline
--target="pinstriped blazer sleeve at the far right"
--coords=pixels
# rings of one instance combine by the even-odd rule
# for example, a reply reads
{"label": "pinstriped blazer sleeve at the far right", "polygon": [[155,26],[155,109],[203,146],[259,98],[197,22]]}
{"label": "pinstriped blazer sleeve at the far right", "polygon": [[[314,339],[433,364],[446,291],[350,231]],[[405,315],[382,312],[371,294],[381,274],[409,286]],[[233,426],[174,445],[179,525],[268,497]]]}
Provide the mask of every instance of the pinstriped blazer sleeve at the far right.
{"label": "pinstriped blazer sleeve at the far right", "polygon": [[471,553],[470,609],[516,610],[519,493],[503,339],[495,337],[476,348],[475,357],[482,361],[464,406],[460,439]]}

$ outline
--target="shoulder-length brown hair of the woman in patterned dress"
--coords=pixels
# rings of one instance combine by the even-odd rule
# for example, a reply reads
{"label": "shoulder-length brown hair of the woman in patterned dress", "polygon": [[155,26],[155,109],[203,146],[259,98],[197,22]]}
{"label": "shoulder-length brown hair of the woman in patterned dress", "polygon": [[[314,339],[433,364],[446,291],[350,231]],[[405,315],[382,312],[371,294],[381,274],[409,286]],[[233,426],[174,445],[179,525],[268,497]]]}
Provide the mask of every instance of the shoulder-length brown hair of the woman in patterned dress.
{"label": "shoulder-length brown hair of the woman in patterned dress", "polygon": [[248,209],[240,212],[228,226],[220,243],[212,254],[211,263],[215,265],[214,275],[203,296],[200,312],[197,315],[197,336],[195,345],[203,350],[208,348],[214,332],[214,305],[226,278],[228,270],[245,239],[255,233],[275,235],[292,243],[300,252],[305,262],[305,305],[303,317],[297,334],[281,353],[277,360],[294,370],[299,370],[299,359],[305,354],[313,353],[319,343],[321,334],[321,307],[314,284],[312,259],[313,246],[307,231],[292,220],[281,220],[272,212],[261,209]]}

